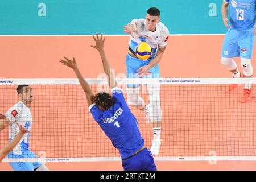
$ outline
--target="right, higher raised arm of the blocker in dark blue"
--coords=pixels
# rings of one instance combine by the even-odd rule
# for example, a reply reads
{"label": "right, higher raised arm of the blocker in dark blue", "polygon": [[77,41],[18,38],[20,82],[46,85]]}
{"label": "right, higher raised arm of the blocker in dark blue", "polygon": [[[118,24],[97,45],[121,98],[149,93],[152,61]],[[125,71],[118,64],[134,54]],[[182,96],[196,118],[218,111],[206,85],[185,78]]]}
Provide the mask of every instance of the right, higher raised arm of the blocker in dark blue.
{"label": "right, higher raised arm of the blocker in dark blue", "polygon": [[95,46],[91,45],[91,47],[97,49],[98,52],[100,53],[103,68],[104,68],[104,72],[107,75],[109,87],[112,89],[117,85],[117,82],[115,81],[114,75],[110,70],[109,61],[108,61],[108,59],[106,58],[106,55],[105,55],[104,42],[105,42],[106,38],[105,37],[103,38],[102,34],[101,34],[101,37],[99,38],[98,34],[96,33],[96,38],[95,38],[95,36],[93,36],[93,39],[94,39],[96,45]]}

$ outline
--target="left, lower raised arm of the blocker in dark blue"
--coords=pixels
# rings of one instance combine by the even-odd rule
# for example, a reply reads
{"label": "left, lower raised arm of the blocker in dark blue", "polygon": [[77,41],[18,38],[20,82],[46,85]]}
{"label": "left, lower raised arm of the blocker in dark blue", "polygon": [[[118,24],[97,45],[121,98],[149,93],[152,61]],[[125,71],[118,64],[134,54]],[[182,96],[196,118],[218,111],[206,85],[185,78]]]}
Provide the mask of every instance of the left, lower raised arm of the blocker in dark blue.
{"label": "left, lower raised arm of the blocker in dark blue", "polygon": [[92,99],[93,99],[93,92],[90,89],[90,85],[88,84],[87,81],[84,80],[84,77],[82,76],[81,72],[79,71],[79,68],[77,67],[75,58],[73,58],[73,60],[70,60],[67,57],[64,57],[64,58],[65,58],[65,60],[60,60],[60,63],[62,63],[63,65],[65,65],[67,67],[72,68],[73,71],[76,73],[76,76],[79,79],[82,89],[85,92],[88,106],[90,106],[92,104]]}

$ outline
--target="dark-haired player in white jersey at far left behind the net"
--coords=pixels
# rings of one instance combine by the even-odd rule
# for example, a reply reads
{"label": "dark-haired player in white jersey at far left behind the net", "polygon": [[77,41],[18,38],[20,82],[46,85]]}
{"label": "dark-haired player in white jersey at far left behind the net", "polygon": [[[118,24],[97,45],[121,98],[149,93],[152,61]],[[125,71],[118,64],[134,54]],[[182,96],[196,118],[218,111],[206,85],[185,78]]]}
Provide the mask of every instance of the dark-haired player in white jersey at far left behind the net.
{"label": "dark-haired player in white jersey at far left behind the net", "polygon": [[[32,88],[30,85],[18,85],[17,92],[20,101],[7,111],[5,118],[2,117],[0,120],[0,131],[10,125],[10,142],[19,133],[16,122],[27,130],[31,130],[32,125],[30,112],[31,102],[33,101]],[[20,142],[7,155],[7,158],[38,158],[36,154],[29,150],[29,138],[30,133],[24,134]],[[9,164],[15,171],[48,171],[48,168],[40,162],[10,162]]]}

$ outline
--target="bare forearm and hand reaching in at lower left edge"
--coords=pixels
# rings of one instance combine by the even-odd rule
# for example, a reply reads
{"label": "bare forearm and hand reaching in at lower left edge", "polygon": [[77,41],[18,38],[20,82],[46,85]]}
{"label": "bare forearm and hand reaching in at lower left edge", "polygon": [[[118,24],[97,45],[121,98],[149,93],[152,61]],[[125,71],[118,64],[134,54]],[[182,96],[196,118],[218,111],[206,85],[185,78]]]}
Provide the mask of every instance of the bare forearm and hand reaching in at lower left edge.
{"label": "bare forearm and hand reaching in at lower left edge", "polygon": [[19,133],[14,137],[13,140],[11,140],[10,143],[7,144],[5,148],[3,148],[2,151],[0,151],[0,163],[5,158],[5,156],[13,150],[13,148],[16,146],[16,144],[19,143],[20,139],[22,139],[23,135],[29,132],[27,129],[25,129],[22,125],[19,125],[19,123],[16,123],[19,127]]}

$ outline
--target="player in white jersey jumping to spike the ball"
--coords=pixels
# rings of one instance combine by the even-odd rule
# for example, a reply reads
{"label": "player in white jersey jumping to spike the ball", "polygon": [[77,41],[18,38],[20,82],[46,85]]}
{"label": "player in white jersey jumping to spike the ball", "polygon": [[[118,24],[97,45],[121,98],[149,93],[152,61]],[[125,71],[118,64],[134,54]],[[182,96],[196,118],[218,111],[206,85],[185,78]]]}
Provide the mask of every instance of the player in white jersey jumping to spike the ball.
{"label": "player in white jersey jumping to spike the ball", "polygon": [[[151,7],[147,11],[146,19],[133,19],[127,26],[123,26],[123,31],[130,34],[129,51],[126,55],[127,78],[160,78],[158,63],[162,59],[169,37],[168,29],[160,22],[160,11]],[[152,48],[152,55],[148,60],[140,60],[135,56],[135,47],[141,42],[147,42]],[[162,121],[160,85],[148,84],[148,93],[150,104],[146,106],[139,96],[139,85],[127,85],[127,103],[142,110],[152,122],[154,138],[150,150],[153,155],[159,155]]]}

